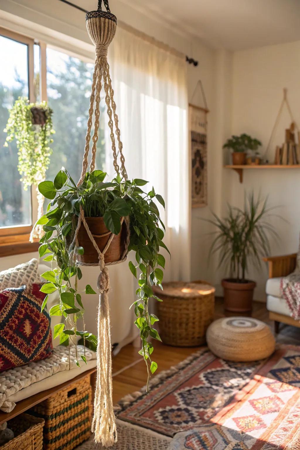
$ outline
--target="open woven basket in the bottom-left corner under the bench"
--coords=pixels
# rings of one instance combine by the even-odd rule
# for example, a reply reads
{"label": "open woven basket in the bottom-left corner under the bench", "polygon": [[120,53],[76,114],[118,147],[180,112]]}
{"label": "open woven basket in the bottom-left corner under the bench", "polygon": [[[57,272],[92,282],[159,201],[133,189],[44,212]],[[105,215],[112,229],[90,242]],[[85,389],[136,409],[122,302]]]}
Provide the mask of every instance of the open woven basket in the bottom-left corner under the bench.
{"label": "open woven basket in the bottom-left corner under the bench", "polygon": [[44,423],[43,419],[29,414],[20,414],[9,420],[8,428],[13,430],[15,437],[0,446],[0,450],[42,450]]}

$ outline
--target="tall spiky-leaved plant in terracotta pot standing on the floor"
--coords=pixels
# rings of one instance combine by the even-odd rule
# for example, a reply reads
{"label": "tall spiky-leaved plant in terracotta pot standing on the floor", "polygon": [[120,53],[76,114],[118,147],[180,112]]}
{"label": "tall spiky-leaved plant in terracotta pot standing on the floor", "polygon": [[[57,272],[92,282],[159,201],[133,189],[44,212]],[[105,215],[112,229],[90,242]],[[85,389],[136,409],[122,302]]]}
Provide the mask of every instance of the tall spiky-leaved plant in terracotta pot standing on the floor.
{"label": "tall spiky-leaved plant in terracotta pot standing on the floor", "polygon": [[224,308],[226,311],[251,314],[255,281],[246,278],[249,261],[261,267],[262,258],[269,254],[269,236],[278,238],[273,225],[266,221],[270,216],[267,198],[255,200],[254,194],[245,195],[244,208],[228,205],[228,216],[209,220],[218,228],[211,248],[219,253],[219,267],[227,265],[230,278],[222,280]]}

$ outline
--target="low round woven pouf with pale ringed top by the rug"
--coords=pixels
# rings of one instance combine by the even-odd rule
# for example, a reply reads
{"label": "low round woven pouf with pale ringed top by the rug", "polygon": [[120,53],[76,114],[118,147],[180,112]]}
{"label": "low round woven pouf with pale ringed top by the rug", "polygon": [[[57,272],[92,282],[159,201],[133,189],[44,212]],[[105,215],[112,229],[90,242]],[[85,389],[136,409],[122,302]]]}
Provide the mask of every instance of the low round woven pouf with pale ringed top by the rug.
{"label": "low round woven pouf with pale ringed top by the rug", "polygon": [[216,356],[236,362],[262,360],[275,349],[268,325],[248,317],[215,320],[207,329],[206,342]]}

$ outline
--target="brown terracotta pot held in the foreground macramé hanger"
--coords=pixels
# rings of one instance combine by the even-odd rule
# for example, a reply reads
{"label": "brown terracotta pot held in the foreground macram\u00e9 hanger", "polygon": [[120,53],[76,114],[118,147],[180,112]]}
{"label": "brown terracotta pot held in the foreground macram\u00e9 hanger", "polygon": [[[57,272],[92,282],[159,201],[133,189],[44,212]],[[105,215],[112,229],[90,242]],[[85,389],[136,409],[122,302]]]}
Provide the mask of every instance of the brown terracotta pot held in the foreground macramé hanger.
{"label": "brown terracotta pot held in the foreground macram\u00e9 hanger", "polygon": [[[103,217],[85,217],[87,224],[89,225],[90,232],[93,234],[94,239],[101,250],[103,251],[106,246],[108,239],[110,237],[109,230],[106,228],[104,224]],[[97,237],[100,235],[106,234],[102,237]],[[121,227],[121,232],[116,234],[110,243],[110,246],[107,249],[107,252],[104,255],[104,261],[114,262],[119,261],[125,250],[125,242],[126,242],[126,225],[123,222]],[[81,247],[84,248],[84,254],[77,256],[77,261],[81,264],[85,263],[98,263],[98,253],[94,248],[87,232],[85,231],[84,225],[81,225],[78,232],[78,243]]]}

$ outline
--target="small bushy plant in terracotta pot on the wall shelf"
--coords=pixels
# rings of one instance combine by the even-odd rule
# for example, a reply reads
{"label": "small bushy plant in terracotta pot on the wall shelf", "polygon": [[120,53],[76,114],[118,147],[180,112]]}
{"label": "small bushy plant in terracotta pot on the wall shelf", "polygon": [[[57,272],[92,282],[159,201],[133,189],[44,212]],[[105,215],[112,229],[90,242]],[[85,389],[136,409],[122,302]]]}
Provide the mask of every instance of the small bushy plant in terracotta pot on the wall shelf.
{"label": "small bushy plant in terracotta pot on the wall shelf", "polygon": [[233,166],[241,166],[246,164],[247,151],[255,151],[260,145],[261,142],[258,139],[253,139],[251,136],[243,133],[240,136],[232,135],[230,139],[227,139],[223,148],[232,150]]}

